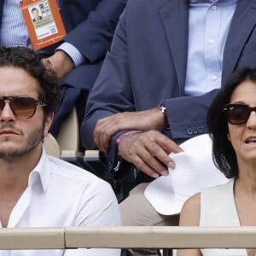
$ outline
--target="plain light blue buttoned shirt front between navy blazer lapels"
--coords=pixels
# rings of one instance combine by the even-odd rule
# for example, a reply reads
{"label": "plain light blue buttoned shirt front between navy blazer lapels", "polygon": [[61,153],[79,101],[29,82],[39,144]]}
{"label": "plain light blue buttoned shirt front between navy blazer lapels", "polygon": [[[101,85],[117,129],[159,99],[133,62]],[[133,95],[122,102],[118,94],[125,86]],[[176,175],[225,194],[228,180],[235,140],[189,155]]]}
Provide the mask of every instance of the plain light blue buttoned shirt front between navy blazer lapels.
{"label": "plain light blue buttoned shirt front between navy blazer lapels", "polygon": [[186,96],[219,88],[224,44],[238,0],[189,0]]}

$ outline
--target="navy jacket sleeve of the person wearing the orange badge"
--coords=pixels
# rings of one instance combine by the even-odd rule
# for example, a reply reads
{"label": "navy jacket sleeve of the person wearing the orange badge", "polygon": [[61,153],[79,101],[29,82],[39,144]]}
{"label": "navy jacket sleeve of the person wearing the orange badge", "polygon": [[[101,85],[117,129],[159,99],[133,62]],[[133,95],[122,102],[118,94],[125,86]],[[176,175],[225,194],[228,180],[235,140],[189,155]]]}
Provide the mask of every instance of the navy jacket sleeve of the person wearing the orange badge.
{"label": "navy jacket sleeve of the person wearing the orange badge", "polygon": [[127,0],[102,0],[96,9],[63,39],[90,62],[102,60],[108,51],[119,15]]}

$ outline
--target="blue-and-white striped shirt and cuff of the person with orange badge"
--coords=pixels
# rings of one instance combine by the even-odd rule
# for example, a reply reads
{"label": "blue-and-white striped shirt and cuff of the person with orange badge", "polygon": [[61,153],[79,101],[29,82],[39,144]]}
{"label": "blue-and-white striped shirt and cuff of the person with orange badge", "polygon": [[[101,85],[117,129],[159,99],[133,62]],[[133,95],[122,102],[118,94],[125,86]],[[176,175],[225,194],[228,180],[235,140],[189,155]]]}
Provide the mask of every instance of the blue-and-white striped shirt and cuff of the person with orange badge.
{"label": "blue-and-white striped shirt and cuff of the person with orange badge", "polygon": [[[0,26],[0,44],[6,46],[32,47],[26,24],[19,6],[20,0],[7,0],[3,4],[3,19]],[[58,3],[58,1],[57,1]],[[75,67],[84,62],[84,55],[73,44],[64,42],[57,49],[67,53]],[[43,50],[44,52],[44,50]]]}

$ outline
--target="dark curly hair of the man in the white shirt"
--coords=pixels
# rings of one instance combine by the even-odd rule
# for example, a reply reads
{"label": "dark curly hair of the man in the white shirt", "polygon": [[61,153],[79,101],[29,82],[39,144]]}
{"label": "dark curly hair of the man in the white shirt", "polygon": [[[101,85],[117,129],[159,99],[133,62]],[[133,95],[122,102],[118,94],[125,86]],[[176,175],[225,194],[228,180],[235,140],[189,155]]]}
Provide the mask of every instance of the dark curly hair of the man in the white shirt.
{"label": "dark curly hair of the man in the white shirt", "polygon": [[55,112],[61,93],[55,72],[49,62],[44,64],[41,55],[25,47],[0,46],[0,67],[19,67],[26,70],[39,84],[39,100],[47,104],[44,118]]}

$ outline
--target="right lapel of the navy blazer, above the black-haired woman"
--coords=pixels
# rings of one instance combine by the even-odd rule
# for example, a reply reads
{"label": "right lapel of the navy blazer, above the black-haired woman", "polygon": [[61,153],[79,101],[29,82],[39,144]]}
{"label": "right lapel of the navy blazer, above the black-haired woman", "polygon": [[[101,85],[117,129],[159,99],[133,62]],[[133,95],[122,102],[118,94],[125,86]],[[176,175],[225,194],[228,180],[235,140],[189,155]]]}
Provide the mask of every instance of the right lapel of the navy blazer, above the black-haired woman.
{"label": "right lapel of the navy blazer, above the black-haired woman", "polygon": [[[253,14],[250,14],[253,12]],[[236,63],[244,44],[247,42],[256,23],[256,3],[251,0],[238,0],[236,11],[230,26],[230,32],[224,48],[222,81],[236,68]]]}

